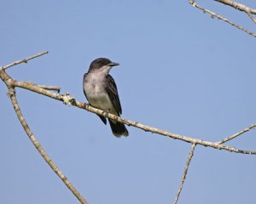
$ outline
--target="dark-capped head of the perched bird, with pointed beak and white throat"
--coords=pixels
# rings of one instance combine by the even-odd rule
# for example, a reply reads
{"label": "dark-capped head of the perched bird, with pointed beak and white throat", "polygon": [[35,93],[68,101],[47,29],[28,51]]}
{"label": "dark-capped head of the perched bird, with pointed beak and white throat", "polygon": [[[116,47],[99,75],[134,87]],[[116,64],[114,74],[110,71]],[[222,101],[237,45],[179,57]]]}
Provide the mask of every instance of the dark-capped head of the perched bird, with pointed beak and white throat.
{"label": "dark-capped head of the perched bird, with pointed beak and white throat", "polygon": [[89,71],[102,71],[108,74],[110,69],[115,65],[119,65],[119,63],[112,62],[108,58],[98,58],[90,63]]}

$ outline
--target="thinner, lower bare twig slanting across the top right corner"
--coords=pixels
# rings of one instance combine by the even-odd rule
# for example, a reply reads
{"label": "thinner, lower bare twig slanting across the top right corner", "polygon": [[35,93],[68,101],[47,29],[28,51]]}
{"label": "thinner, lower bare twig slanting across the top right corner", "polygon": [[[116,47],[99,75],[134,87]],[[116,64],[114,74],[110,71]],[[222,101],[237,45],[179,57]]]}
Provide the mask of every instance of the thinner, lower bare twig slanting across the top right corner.
{"label": "thinner, lower bare twig slanting across the top right corner", "polygon": [[247,34],[249,34],[249,35],[251,35],[251,36],[253,36],[253,37],[256,37],[256,34],[253,33],[252,31],[249,31],[249,30],[247,30],[246,28],[244,28],[244,27],[242,27],[242,26],[239,26],[239,25],[237,25],[236,23],[231,22],[231,21],[228,20],[228,19],[225,19],[223,16],[221,16],[221,15],[219,15],[219,14],[216,14],[216,13],[214,13],[214,12],[212,12],[212,11],[206,9],[206,8],[202,8],[200,5],[198,5],[198,4],[196,3],[195,0],[189,0],[189,3],[190,3],[193,7],[200,9],[200,10],[203,11],[204,13],[210,14],[212,18],[216,17],[216,18],[218,18],[218,20],[223,20],[224,22],[230,24],[231,26],[235,26],[236,28],[240,29],[241,31],[245,31]]}

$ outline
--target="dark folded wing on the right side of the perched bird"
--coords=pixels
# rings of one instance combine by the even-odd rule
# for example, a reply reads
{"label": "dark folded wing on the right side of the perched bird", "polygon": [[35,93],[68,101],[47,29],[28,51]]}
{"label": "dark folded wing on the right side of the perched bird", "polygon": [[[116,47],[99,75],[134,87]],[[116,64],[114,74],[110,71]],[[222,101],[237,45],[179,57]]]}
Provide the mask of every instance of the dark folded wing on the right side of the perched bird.
{"label": "dark folded wing on the right side of the perched bird", "polygon": [[108,96],[111,99],[112,103],[113,103],[113,107],[115,109],[115,111],[117,111],[118,115],[122,114],[122,107],[120,104],[120,100],[119,100],[119,93],[116,87],[116,84],[113,80],[113,77],[111,77],[110,75],[107,76],[108,79],[108,86],[106,86],[106,90],[108,92]]}

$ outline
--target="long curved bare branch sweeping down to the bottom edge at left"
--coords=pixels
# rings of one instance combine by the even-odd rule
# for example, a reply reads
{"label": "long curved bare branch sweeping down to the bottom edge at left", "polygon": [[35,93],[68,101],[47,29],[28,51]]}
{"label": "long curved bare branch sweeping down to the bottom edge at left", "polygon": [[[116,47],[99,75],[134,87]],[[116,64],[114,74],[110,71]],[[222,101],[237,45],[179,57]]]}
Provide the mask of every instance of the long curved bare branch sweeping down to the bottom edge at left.
{"label": "long curved bare branch sweeping down to the bottom edge at left", "polygon": [[44,160],[49,164],[49,167],[51,167],[55,173],[58,175],[59,178],[61,178],[61,180],[63,181],[64,184],[67,185],[67,188],[69,190],[71,190],[73,192],[73,195],[75,195],[79,201],[83,204],[86,204],[87,201],[85,201],[85,199],[83,198],[82,195],[79,194],[79,191],[75,189],[75,187],[73,186],[73,184],[70,183],[70,181],[67,179],[67,177],[61,172],[61,170],[55,165],[54,161],[52,161],[50,159],[50,157],[47,155],[47,153],[44,151],[43,147],[41,146],[41,144],[38,142],[38,139],[34,136],[34,134],[32,133],[31,129],[28,127],[26,120],[24,118],[24,116],[22,115],[22,112],[20,111],[20,106],[18,104],[18,101],[16,99],[16,95],[15,95],[15,88],[9,88],[9,96],[10,99],[12,101],[12,104],[14,106],[16,115],[18,116],[19,120],[20,120],[20,124],[21,126],[24,128],[27,136],[29,137],[29,139],[32,141],[32,144],[34,144],[34,146],[36,147],[36,149],[38,150],[39,154],[41,156],[43,156]]}

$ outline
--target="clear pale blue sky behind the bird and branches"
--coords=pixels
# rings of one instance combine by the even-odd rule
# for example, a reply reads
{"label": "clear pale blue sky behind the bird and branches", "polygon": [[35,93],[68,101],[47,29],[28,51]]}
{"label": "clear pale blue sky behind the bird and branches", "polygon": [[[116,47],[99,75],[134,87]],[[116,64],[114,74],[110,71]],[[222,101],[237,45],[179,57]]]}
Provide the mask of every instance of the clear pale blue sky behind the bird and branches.
{"label": "clear pale blue sky behind the bird and branches", "polygon": [[[255,31],[246,14],[199,3]],[[108,57],[120,63],[111,75],[124,118],[209,141],[256,122],[256,39],[186,0],[9,0],[0,25],[0,65],[49,51],[10,68],[16,80],[61,86],[85,102],[84,72]],[[0,82],[0,203],[79,203],[27,138],[6,92]],[[190,144],[135,127],[117,139],[88,111],[19,88],[17,98],[44,150],[90,204],[174,201]],[[255,150],[255,130],[227,144]],[[179,203],[256,203],[255,169],[256,156],[198,146]]]}

